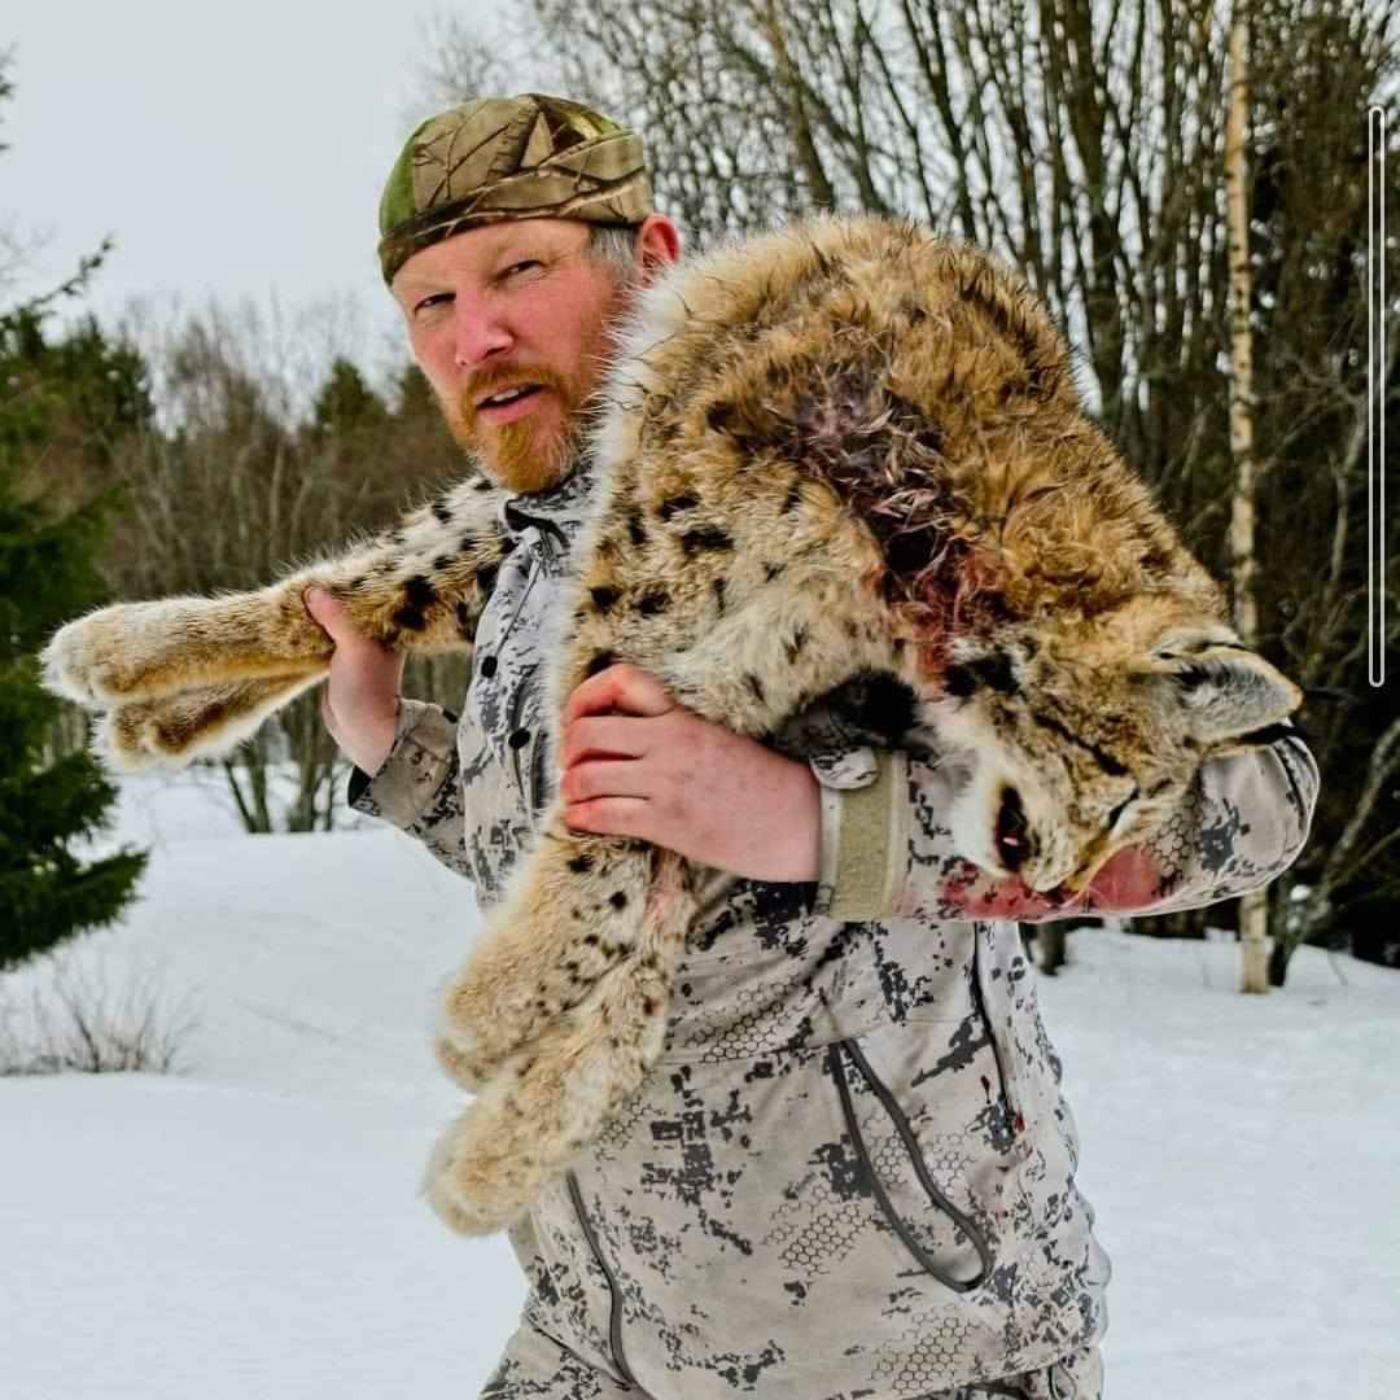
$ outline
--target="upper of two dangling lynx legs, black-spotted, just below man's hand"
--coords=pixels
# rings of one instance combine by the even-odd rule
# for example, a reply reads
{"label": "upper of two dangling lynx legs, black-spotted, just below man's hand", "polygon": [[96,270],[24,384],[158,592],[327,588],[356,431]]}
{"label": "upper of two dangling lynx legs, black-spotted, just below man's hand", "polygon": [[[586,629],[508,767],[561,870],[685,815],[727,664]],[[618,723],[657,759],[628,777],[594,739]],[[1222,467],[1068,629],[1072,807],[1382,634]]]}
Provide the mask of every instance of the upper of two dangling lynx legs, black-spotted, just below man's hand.
{"label": "upper of two dangling lynx legs, black-spotted, just below man's hand", "polygon": [[584,1002],[643,941],[651,848],[573,833],[559,806],[545,832],[444,997],[438,1058],[463,1088]]}

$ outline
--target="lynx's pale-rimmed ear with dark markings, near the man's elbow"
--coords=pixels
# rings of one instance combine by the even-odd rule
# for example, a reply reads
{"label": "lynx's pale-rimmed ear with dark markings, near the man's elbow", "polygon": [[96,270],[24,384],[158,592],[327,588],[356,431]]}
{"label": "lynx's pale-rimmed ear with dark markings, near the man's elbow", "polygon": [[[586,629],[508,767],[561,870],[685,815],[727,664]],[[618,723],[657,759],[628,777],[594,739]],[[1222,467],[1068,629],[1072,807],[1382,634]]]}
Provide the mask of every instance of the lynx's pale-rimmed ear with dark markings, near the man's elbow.
{"label": "lynx's pale-rimmed ear with dark markings, near the man's elbow", "polygon": [[1186,711],[1193,738],[1204,745],[1240,739],[1281,724],[1302,704],[1302,692],[1263,657],[1238,644],[1156,652],[1173,700]]}

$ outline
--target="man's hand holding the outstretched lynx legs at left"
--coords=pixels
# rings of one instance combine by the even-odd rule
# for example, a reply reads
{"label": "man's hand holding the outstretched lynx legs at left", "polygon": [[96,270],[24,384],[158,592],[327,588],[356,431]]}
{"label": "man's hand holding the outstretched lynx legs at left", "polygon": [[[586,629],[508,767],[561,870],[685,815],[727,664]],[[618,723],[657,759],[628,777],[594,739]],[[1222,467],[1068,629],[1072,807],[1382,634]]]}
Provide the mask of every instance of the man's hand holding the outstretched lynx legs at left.
{"label": "man's hand holding the outstretched lynx legs at left", "polygon": [[336,644],[321,693],[321,718],[357,769],[378,773],[393,748],[403,655],[356,631],[344,603],[323,588],[308,588],[305,603],[312,620]]}

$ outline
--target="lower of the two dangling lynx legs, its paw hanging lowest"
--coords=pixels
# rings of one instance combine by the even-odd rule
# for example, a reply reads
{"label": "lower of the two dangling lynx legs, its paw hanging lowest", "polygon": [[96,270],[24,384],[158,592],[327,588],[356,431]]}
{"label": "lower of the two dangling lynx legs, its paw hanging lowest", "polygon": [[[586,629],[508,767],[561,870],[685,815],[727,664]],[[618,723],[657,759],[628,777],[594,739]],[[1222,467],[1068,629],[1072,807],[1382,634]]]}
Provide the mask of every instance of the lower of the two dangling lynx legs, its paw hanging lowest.
{"label": "lower of the two dangling lynx legs, its paw hanging lowest", "polygon": [[507,1228],[661,1054],[671,967],[636,958],[491,1079],[434,1149],[424,1193],[455,1231]]}

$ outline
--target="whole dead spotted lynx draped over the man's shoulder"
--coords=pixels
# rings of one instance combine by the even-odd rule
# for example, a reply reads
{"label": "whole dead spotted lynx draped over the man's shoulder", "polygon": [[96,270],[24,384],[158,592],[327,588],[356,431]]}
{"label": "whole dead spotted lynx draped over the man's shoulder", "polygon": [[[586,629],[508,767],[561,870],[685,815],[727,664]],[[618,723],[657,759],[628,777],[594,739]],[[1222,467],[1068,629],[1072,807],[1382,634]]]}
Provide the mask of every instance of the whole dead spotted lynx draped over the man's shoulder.
{"label": "whole dead spotted lynx draped over the man's shoulder", "polygon": [[[594,456],[556,715],[627,661],[769,738],[865,678],[906,699],[868,717],[892,739],[966,750],[959,850],[1032,889],[1082,888],[1298,701],[1085,416],[1040,305],[916,228],[819,223],[672,273],[622,337]],[[308,584],[391,645],[469,645],[500,504],[475,476],[260,592],[94,613],[49,647],[52,685],[106,711],[119,763],[228,748],[326,671]],[[679,857],[546,813],[447,993],[440,1056],[476,1092],[428,1173],[452,1225],[508,1224],[655,1061],[689,889]]]}

